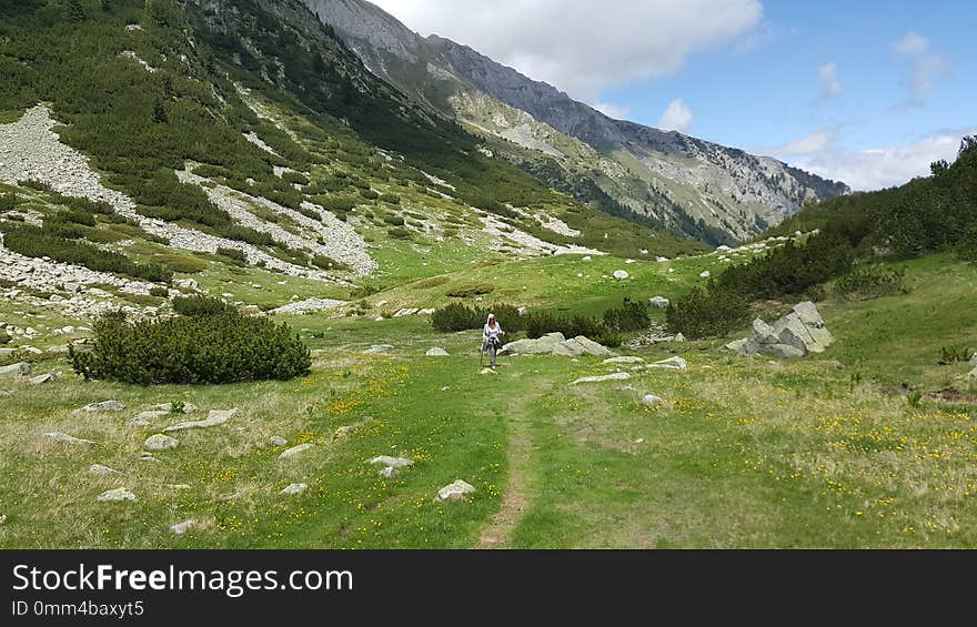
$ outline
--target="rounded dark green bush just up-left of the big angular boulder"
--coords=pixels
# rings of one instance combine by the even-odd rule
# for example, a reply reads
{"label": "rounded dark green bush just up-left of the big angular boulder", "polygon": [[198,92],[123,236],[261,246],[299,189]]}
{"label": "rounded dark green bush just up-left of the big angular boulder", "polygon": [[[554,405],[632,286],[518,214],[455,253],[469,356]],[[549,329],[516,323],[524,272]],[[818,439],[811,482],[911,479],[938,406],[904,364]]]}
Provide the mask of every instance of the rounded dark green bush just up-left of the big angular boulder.
{"label": "rounded dark green bush just up-left of the big angular boulder", "polygon": [[711,283],[708,290],[693,287],[665,312],[668,328],[691,340],[723,336],[749,318],[748,300],[732,290]]}

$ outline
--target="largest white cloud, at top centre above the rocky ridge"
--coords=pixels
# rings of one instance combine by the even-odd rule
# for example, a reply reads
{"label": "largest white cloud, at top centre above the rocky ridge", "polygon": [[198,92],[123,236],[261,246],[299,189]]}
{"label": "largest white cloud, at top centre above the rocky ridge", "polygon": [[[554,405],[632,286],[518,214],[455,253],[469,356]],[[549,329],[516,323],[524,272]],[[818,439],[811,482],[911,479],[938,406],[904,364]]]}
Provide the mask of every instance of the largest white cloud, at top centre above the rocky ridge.
{"label": "largest white cloud, at top centre above the rocky ridge", "polygon": [[696,52],[763,22],[761,0],[374,0],[409,28],[471,45],[595,102],[606,89],[674,73]]}

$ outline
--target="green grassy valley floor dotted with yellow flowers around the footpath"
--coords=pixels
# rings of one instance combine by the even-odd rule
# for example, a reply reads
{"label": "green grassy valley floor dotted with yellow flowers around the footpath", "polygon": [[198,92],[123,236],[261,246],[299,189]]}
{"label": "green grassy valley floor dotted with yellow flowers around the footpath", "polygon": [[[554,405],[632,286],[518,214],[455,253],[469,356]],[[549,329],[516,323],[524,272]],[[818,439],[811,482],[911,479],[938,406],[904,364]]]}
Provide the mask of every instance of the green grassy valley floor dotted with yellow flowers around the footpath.
{"label": "green grassy valley floor dotted with yellow flowers around the footpath", "polygon": [[[360,316],[280,316],[314,350],[312,374],[291,382],[84,382],[63,357],[34,364],[63,371],[54,383],[2,382],[0,547],[977,546],[977,385],[964,380],[966,364],[937,364],[941,346],[977,345],[973,265],[905,262],[908,293],[819,303],[836,344],[814,358],[743,358],[722,347],[728,340],[622,347],[647,361],[679,354],[689,367],[580,386],[568,384],[615,366],[504,357],[496,375],[481,374],[479,332],[374,318],[480,282],[495,286],[484,302],[595,313],[625,295],[674,297],[716,256],[471,265],[392,285]],[[631,277],[604,279],[620,269]],[[375,344],[394,348],[364,354]],[[452,356],[426,357],[433,346]],[[899,394],[903,383],[914,394]],[[645,394],[664,404],[643,406]],[[125,411],[72,413],[109,398]],[[124,425],[177,401],[200,409]],[[167,425],[231,407],[241,412],[228,423],[173,434],[177,448],[140,458]],[[314,447],[279,458],[304,443]],[[366,463],[376,455],[415,463],[384,478]],[[91,464],[119,474],[92,475]],[[436,503],[455,479],[476,492]],[[296,483],[309,488],[279,494]],[[97,500],[115,487],[138,500]],[[170,530],[191,518],[185,535]]]}

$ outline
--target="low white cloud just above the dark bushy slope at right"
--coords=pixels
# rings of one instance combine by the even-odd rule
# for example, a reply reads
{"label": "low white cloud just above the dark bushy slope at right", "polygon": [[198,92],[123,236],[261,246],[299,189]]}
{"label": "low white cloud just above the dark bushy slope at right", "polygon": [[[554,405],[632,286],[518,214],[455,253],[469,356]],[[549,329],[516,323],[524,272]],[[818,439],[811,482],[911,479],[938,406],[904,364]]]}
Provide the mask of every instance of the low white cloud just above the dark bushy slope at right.
{"label": "low white cloud just above the dark bushy slope at right", "polygon": [[929,174],[929,164],[940,159],[956,159],[964,135],[977,128],[941,131],[919,141],[889,148],[839,151],[825,150],[795,164],[835,181],[844,181],[855,190],[878,190],[902,185],[916,176]]}

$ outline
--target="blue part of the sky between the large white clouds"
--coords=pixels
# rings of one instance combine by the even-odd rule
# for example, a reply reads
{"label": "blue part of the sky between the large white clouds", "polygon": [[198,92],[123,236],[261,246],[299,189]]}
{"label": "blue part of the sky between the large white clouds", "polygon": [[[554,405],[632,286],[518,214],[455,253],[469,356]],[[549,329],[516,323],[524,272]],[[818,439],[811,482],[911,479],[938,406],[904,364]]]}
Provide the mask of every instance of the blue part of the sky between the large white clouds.
{"label": "blue part of the sky between the large white clouds", "polygon": [[[878,186],[867,173],[845,171],[853,154],[920,143],[926,153],[927,139],[977,128],[977,2],[939,7],[768,1],[753,41],[693,54],[668,77],[608,89],[601,100],[655,125],[681,98],[694,115],[691,134]],[[834,80],[823,81],[829,64]]]}

